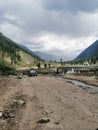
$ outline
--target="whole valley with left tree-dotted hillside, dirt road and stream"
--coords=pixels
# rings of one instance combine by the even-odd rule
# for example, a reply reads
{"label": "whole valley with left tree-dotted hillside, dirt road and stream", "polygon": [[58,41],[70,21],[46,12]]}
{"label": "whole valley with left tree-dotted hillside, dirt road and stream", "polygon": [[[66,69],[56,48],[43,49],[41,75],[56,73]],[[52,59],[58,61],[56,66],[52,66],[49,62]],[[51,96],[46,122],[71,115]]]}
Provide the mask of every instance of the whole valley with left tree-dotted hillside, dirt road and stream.
{"label": "whole valley with left tree-dotted hillside, dirt road and stream", "polygon": [[55,58],[0,35],[0,130],[98,130],[97,56]]}

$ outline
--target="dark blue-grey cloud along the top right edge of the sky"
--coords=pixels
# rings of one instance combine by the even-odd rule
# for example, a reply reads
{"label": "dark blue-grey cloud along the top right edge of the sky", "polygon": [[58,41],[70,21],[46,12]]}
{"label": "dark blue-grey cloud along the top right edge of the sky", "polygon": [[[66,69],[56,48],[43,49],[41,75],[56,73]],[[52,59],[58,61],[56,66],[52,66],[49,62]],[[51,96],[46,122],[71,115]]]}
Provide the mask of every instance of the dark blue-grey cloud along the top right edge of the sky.
{"label": "dark blue-grey cloud along the top right edge of the sky", "polygon": [[43,0],[43,6],[56,11],[94,11],[98,9],[98,0]]}

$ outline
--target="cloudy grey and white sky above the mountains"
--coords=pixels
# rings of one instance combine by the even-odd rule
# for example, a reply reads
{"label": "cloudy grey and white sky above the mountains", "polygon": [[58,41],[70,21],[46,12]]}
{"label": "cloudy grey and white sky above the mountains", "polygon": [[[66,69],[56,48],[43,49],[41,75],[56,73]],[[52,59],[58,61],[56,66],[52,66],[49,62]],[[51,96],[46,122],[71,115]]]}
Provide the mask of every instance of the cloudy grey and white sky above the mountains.
{"label": "cloudy grey and white sky above the mountains", "polygon": [[0,32],[71,60],[98,39],[98,0],[1,0]]}

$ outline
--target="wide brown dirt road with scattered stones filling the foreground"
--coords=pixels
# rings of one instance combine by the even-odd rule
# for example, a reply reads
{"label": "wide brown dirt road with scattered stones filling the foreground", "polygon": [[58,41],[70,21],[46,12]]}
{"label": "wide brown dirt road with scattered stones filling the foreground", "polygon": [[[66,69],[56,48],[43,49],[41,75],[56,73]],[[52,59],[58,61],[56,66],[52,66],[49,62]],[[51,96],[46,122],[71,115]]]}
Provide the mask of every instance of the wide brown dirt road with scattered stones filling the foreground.
{"label": "wide brown dirt road with scattered stones filling the foreground", "polygon": [[56,77],[0,78],[0,111],[0,130],[98,128],[98,94]]}

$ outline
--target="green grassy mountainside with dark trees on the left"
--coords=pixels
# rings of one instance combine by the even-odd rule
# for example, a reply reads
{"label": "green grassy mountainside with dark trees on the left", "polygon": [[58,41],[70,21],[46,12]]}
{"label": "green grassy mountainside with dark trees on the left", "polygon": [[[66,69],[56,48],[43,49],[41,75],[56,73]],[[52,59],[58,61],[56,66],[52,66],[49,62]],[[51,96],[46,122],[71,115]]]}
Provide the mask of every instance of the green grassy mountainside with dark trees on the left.
{"label": "green grassy mountainside with dark trees on the left", "polygon": [[39,57],[24,48],[0,33],[0,70],[33,67],[41,61]]}

